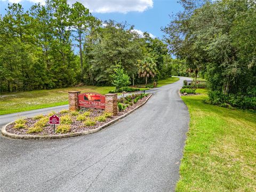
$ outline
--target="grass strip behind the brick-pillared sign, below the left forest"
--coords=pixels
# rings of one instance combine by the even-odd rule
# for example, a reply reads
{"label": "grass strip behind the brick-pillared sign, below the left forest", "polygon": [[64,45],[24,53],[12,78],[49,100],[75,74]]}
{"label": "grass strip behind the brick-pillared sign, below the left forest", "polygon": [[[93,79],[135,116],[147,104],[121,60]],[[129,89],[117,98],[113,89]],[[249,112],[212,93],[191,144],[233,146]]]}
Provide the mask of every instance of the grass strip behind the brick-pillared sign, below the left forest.
{"label": "grass strip behind the brick-pillared sign, below the left forest", "polygon": [[4,94],[0,100],[0,115],[66,105],[68,104],[68,91],[106,94],[114,89],[113,86],[81,86]]}

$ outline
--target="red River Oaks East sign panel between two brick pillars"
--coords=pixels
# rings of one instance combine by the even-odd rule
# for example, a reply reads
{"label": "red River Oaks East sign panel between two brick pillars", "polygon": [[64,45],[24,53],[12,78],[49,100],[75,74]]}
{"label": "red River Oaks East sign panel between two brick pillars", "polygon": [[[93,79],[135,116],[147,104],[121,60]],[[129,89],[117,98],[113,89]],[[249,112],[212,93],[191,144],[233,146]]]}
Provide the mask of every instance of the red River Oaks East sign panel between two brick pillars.
{"label": "red River Oaks East sign panel between two brick pillars", "polygon": [[105,109],[105,96],[99,93],[78,94],[78,106]]}

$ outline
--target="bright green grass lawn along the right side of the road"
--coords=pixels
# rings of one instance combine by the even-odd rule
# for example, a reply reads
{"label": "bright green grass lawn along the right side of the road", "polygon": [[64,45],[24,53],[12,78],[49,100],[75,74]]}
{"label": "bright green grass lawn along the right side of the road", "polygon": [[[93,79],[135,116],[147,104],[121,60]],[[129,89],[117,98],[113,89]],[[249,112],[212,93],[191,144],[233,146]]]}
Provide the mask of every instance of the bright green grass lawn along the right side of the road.
{"label": "bright green grass lawn along the right side of the road", "polygon": [[256,114],[181,98],[190,128],[176,191],[256,191]]}

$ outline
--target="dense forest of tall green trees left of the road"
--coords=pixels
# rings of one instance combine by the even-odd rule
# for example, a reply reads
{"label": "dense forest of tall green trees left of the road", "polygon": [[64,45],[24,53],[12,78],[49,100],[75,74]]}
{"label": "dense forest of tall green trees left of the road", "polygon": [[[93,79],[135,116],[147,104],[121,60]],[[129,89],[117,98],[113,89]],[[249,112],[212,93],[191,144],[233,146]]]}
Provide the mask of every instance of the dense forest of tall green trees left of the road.
{"label": "dense forest of tall green trees left of the road", "polygon": [[111,85],[116,63],[133,84],[145,83],[139,76],[143,66],[154,71],[148,81],[169,77],[172,66],[182,68],[158,38],[140,36],[126,22],[102,22],[83,4],[66,0],[35,4],[28,11],[9,5],[0,18],[0,50],[2,92]]}

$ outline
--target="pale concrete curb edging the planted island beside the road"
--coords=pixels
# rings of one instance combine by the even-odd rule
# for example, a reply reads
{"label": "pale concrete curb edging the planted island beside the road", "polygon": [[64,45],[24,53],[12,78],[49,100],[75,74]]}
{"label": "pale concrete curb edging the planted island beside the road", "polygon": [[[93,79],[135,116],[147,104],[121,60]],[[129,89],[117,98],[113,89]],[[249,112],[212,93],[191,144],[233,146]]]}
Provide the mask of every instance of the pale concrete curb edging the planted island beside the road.
{"label": "pale concrete curb edging the planted island beside the road", "polygon": [[78,137],[78,136],[82,136],[82,135],[86,135],[86,134],[91,134],[91,133],[95,133],[98,131],[101,131],[102,129],[105,129],[106,127],[118,122],[119,120],[121,120],[122,118],[130,115],[133,111],[137,110],[138,108],[142,107],[143,105],[145,105],[145,103],[149,100],[149,98],[152,96],[153,94],[150,94],[148,96],[148,98],[146,99],[145,102],[141,103],[141,105],[135,107],[134,109],[132,109],[131,111],[129,111],[128,113],[117,117],[116,119],[113,119],[112,121],[99,126],[96,129],[90,130],[90,131],[83,131],[83,132],[77,132],[77,133],[69,133],[69,134],[62,134],[62,135],[18,135],[18,134],[13,134],[13,133],[9,133],[7,132],[5,129],[6,127],[13,123],[10,122],[6,125],[3,126],[3,128],[1,129],[1,133],[2,136],[4,136],[5,138],[10,138],[10,139],[23,139],[23,140],[42,140],[42,139],[63,139],[63,138],[70,138],[70,137]]}

